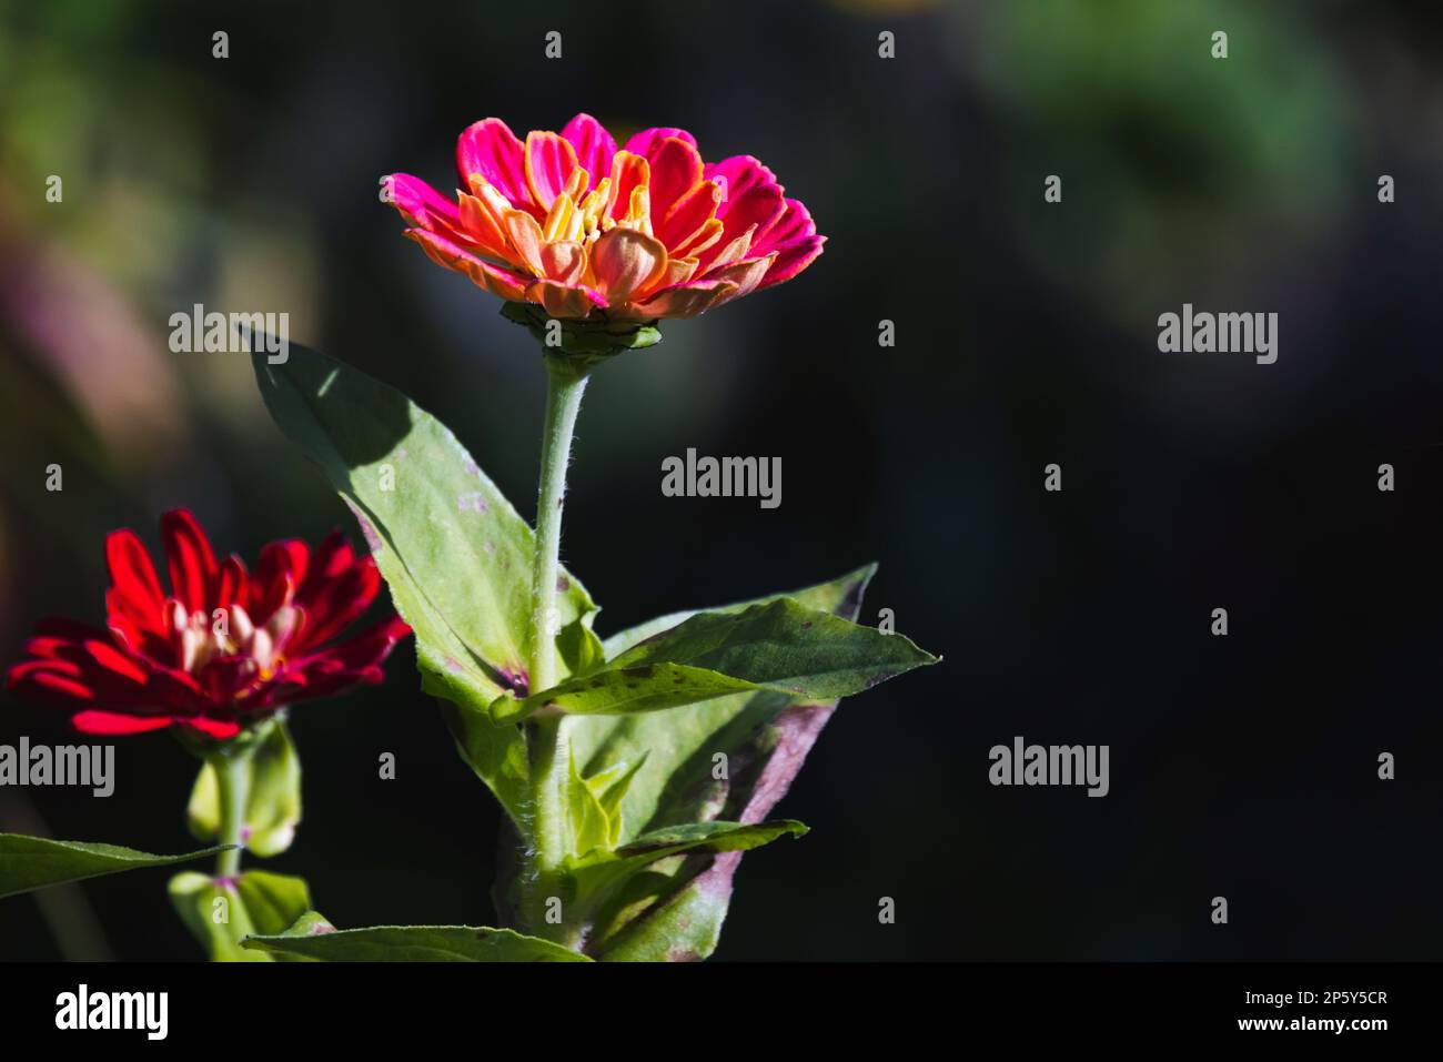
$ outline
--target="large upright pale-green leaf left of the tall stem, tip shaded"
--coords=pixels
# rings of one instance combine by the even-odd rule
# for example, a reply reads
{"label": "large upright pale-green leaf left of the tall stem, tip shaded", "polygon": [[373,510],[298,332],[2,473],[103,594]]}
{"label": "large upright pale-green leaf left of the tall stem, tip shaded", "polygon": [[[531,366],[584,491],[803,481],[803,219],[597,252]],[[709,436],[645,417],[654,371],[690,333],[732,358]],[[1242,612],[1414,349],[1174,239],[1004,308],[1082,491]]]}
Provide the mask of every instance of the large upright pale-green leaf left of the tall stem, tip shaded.
{"label": "large upright pale-green leaf left of the tall stem, tip shaded", "polygon": [[[290,345],[286,362],[253,358],[267,408],[351,506],[416,631],[421,688],[452,701],[456,745],[512,821],[528,801],[524,739],[486,729],[486,706],[530,659],[532,531],[465,447],[395,388]],[[561,573],[557,674],[599,654],[596,605]]]}

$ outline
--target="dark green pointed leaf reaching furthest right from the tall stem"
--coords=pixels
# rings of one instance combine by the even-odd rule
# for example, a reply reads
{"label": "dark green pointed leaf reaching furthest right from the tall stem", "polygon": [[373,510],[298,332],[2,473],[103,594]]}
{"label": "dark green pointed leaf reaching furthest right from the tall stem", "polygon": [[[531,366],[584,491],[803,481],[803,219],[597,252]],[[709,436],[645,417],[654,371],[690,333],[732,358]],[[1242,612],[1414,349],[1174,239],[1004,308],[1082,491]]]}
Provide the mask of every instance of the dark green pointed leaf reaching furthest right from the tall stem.
{"label": "dark green pointed leaf reaching furthest right from the tall stem", "polygon": [[743,612],[703,612],[626,649],[606,668],[492,704],[498,723],[554,706],[571,714],[659,711],[752,690],[835,700],[937,657],[782,597]]}

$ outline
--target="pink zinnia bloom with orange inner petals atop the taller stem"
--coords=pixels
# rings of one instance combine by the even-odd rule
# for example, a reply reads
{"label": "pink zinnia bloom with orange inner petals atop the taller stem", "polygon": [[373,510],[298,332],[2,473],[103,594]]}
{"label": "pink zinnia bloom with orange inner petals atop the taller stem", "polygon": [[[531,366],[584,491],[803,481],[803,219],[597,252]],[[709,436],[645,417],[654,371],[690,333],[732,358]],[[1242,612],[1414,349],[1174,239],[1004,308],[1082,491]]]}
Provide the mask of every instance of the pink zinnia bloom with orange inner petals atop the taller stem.
{"label": "pink zinnia bloom with orange inner petals atop the taller stem", "polygon": [[704,163],[681,128],[618,150],[596,118],[525,141],[499,118],[460,134],[455,201],[418,177],[384,179],[433,261],[553,317],[693,317],[781,284],[821,254],[811,214],[749,154]]}

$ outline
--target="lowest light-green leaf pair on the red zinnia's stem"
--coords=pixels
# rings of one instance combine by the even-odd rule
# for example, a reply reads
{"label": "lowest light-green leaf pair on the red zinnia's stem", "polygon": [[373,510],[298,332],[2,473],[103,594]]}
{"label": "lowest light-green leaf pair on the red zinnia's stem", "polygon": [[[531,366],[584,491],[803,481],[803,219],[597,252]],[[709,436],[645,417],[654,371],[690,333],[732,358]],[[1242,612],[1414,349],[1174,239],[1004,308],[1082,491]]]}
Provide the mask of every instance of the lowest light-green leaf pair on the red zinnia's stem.
{"label": "lowest light-green leaf pair on the red zinnia's stem", "polygon": [[170,879],[170,902],[190,934],[215,962],[270,962],[271,955],[245,951],[253,934],[280,934],[310,910],[310,890],[300,877],[247,870],[222,882],[193,870]]}

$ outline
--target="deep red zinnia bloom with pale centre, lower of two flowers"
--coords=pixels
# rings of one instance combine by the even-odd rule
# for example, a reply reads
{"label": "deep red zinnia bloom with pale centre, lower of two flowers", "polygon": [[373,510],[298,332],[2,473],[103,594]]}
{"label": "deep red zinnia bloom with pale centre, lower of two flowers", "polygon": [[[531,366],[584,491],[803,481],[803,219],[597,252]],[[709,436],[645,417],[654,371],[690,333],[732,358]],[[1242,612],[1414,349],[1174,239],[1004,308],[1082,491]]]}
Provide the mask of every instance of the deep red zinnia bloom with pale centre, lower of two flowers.
{"label": "deep red zinnia bloom with pale centre, lower of two flowers", "polygon": [[75,727],[130,734],[180,726],[229,739],[284,704],[380,683],[381,661],[410,628],[391,615],[333,644],[375,599],[381,574],[336,531],[316,550],[287,540],[254,573],[216,561],[185,509],[160,524],[170,593],[131,531],[105,540],[107,628],[48,620],[10,668],[16,693],[75,711]]}

